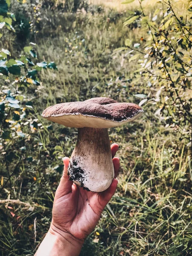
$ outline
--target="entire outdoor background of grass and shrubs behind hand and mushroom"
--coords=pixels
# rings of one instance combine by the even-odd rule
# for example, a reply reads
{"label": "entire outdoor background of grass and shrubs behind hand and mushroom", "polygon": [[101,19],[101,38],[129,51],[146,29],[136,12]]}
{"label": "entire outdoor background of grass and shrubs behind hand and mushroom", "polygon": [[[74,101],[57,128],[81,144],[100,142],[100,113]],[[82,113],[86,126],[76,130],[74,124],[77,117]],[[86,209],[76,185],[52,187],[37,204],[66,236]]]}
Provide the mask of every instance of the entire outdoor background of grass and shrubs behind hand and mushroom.
{"label": "entire outdoor background of grass and shrubs behind hand and mushroom", "polygon": [[0,0],[0,255],[32,255],[77,130],[50,105],[110,97],[117,191],[81,256],[192,255],[192,1]]}

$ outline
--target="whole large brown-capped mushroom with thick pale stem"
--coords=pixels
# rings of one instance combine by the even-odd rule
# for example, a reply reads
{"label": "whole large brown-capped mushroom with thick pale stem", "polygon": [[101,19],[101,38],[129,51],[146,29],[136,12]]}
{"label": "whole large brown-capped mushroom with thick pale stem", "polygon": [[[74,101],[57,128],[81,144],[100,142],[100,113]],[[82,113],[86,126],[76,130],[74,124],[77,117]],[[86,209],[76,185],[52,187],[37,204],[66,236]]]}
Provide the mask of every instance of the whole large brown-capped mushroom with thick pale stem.
{"label": "whole large brown-capped mushroom with thick pale stem", "polygon": [[133,103],[118,103],[101,97],[56,104],[46,108],[42,116],[78,128],[76,147],[68,167],[69,179],[84,189],[102,192],[114,177],[107,128],[133,121],[143,113],[143,109]]}

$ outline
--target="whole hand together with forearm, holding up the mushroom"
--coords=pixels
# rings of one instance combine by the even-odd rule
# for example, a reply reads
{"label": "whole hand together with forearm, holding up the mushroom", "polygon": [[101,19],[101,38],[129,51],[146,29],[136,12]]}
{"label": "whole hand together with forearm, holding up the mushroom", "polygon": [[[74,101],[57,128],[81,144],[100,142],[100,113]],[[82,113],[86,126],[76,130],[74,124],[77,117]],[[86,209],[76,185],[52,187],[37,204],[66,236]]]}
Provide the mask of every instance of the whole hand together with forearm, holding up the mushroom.
{"label": "whole hand together with forearm, holding up the mushroom", "polygon": [[[55,193],[52,209],[52,222],[47,233],[46,241],[37,251],[36,255],[79,255],[84,239],[93,231],[99,222],[101,213],[115,193],[118,181],[119,158],[114,157],[118,150],[118,144],[111,145],[111,154],[114,166],[114,179],[111,186],[103,192],[90,192],[69,180],[67,169],[69,158],[65,157],[64,172]],[[44,240],[45,240],[44,239]],[[51,247],[47,254],[44,251],[49,243],[57,244]],[[60,247],[61,254],[55,250]],[[54,248],[54,249],[53,249]],[[71,251],[73,250],[73,253]],[[55,254],[54,254],[55,253]]]}

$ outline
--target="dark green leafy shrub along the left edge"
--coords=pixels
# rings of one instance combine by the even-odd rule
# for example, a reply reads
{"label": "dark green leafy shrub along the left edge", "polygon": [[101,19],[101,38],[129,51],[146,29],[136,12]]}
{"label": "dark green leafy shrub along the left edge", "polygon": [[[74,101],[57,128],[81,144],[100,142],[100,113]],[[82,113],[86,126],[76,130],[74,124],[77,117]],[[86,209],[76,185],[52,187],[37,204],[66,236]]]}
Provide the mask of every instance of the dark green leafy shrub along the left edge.
{"label": "dark green leafy shrub along the left edge", "polygon": [[[15,15],[8,12],[9,1],[1,0],[1,27],[12,27]],[[54,62],[37,62],[37,54],[30,43],[24,47],[24,52],[19,58],[14,58],[8,49],[0,51],[0,75],[5,84],[0,91],[0,147],[1,160],[5,161],[2,166],[3,173],[7,172],[8,180],[3,182],[1,190],[10,183],[10,198],[12,198],[11,177],[15,175],[17,166],[25,155],[26,141],[30,143],[32,134],[38,128],[42,128],[37,117],[34,116],[33,103],[35,88],[40,85],[38,73],[42,69],[57,69]],[[13,145],[16,145],[14,147]],[[26,157],[26,160],[27,159]],[[11,172],[12,169],[12,172]]]}

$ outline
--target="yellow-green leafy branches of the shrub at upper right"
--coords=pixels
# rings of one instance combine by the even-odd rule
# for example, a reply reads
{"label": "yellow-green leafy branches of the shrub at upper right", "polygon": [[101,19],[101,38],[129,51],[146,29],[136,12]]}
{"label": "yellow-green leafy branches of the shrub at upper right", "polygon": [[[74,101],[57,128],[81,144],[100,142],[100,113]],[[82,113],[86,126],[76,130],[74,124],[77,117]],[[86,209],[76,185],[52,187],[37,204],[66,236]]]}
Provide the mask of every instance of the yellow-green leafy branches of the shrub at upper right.
{"label": "yellow-green leafy branches of the shrub at upper right", "polygon": [[[125,1],[130,3],[134,1]],[[191,145],[192,151],[192,1],[186,9],[186,16],[177,14],[174,2],[159,1],[152,17],[146,15],[140,2],[139,15],[133,12],[124,26],[139,26],[142,29],[140,42],[129,38],[125,45],[132,51],[129,61],[138,60],[139,73],[145,86],[151,90],[151,97],[140,105],[158,105],[156,115],[166,127],[180,132]],[[159,90],[154,95],[154,87]]]}

